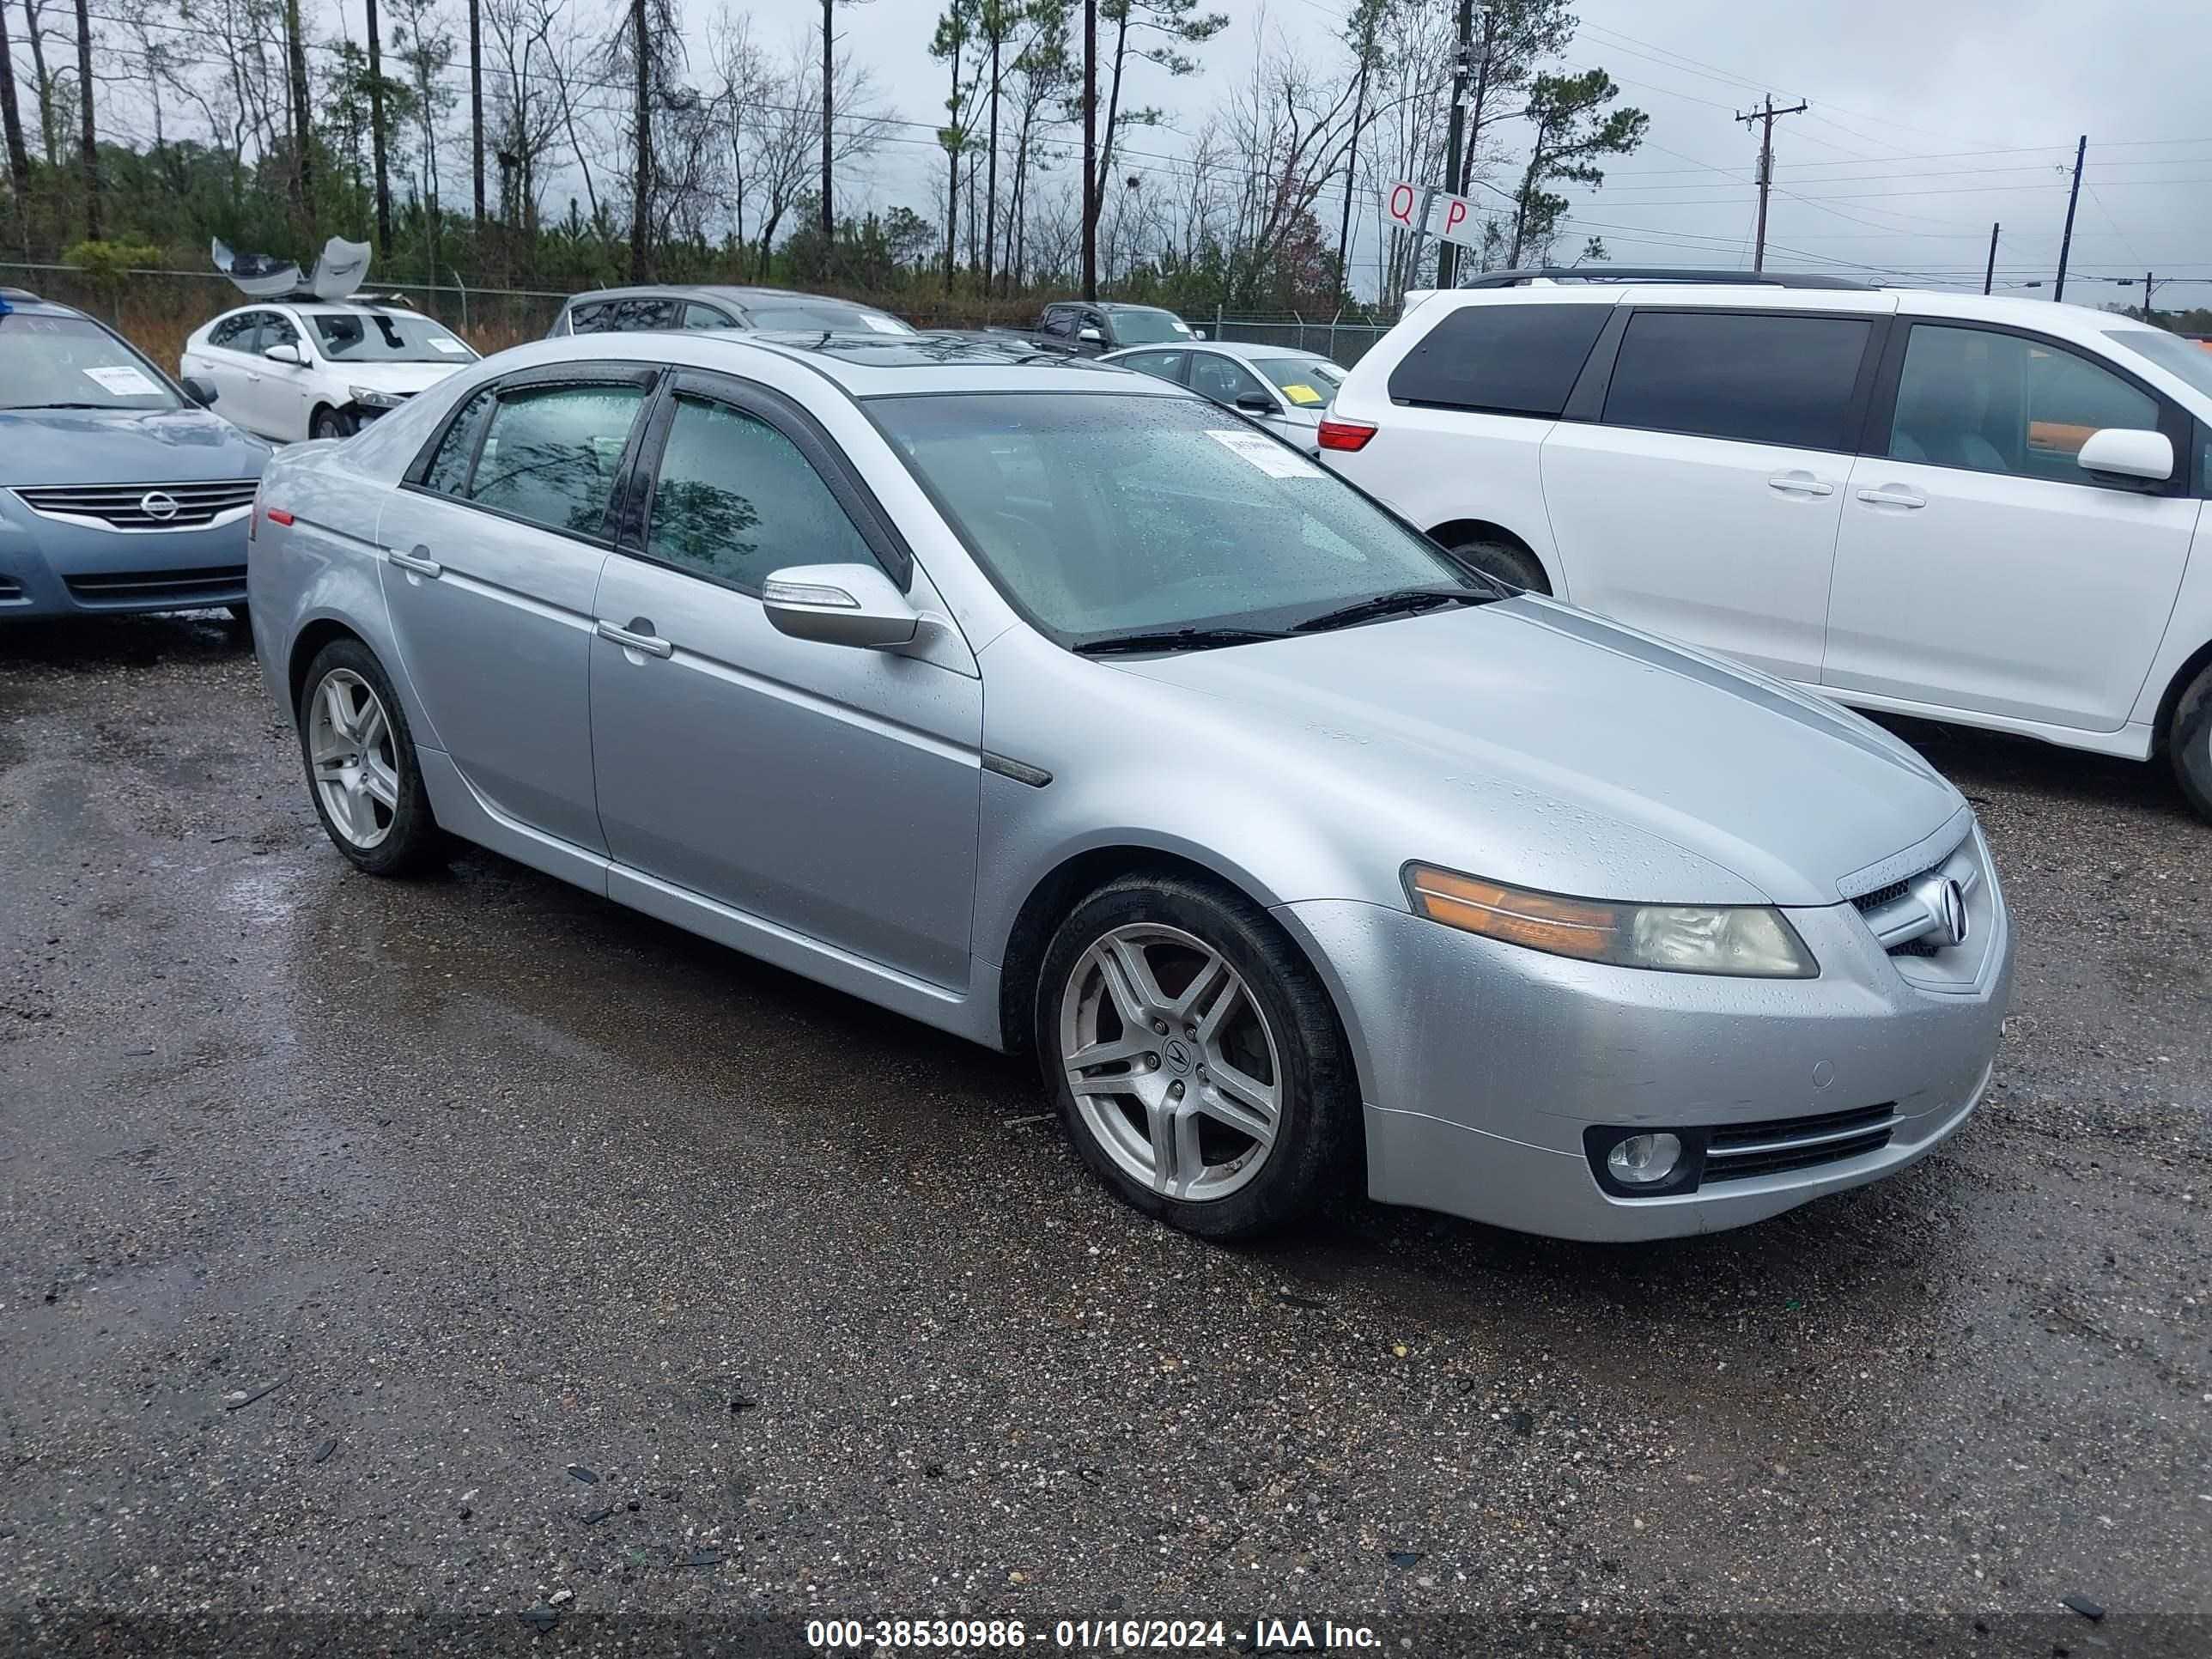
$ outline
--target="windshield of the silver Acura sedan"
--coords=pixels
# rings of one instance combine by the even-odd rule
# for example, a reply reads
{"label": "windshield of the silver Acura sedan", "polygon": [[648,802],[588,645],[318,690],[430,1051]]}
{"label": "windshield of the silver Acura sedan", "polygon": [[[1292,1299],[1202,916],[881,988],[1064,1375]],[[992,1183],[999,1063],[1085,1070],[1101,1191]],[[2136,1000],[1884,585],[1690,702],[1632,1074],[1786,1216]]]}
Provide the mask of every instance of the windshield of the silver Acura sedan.
{"label": "windshield of the silver Acura sedan", "polygon": [[1400,588],[1478,588],[1349,484],[1194,398],[980,392],[869,414],[1062,646],[1281,630]]}

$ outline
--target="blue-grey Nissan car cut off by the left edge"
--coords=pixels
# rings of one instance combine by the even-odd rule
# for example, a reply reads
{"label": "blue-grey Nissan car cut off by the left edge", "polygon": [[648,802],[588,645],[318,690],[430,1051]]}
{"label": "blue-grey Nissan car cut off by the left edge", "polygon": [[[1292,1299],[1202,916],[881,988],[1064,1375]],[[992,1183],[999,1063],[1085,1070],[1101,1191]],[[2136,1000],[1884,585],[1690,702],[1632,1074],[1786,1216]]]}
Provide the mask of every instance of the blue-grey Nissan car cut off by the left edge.
{"label": "blue-grey Nissan car cut off by the left edge", "polygon": [[246,606],[270,447],[106,323],[0,288],[0,619]]}

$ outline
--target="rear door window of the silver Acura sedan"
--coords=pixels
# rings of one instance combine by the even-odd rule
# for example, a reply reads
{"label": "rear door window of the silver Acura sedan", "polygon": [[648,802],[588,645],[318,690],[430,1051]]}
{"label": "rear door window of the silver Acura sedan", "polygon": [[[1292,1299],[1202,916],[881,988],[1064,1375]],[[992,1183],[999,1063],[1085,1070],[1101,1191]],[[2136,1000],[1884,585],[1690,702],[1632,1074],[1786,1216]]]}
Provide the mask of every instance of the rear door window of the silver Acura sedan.
{"label": "rear door window of the silver Acura sedan", "polygon": [[571,535],[599,535],[644,403],[635,385],[524,387],[498,400],[469,500]]}

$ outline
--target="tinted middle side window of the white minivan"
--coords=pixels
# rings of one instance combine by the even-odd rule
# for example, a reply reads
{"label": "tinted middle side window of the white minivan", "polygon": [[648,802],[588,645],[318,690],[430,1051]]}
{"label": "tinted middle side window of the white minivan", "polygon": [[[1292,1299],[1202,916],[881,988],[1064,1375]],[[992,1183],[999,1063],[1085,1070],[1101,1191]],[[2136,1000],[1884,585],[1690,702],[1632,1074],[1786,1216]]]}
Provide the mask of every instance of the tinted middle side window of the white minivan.
{"label": "tinted middle side window of the white minivan", "polygon": [[1787,312],[1637,312],[1606,389],[1608,427],[1851,451],[1851,389],[1874,321]]}

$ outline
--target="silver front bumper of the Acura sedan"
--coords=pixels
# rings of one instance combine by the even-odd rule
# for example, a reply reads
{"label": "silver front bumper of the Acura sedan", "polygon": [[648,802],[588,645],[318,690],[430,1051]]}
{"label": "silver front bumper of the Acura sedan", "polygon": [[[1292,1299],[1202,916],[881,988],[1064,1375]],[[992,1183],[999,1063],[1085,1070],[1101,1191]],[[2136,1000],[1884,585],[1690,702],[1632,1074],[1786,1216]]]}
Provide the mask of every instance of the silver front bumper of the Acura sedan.
{"label": "silver front bumper of the Acura sedan", "polygon": [[[1383,1203],[1559,1239],[1734,1228],[1907,1168],[1982,1099],[2013,938],[1989,878],[1980,971],[1909,984],[1851,905],[1792,909],[1816,980],[1573,962],[1354,900],[1276,911],[1332,982]],[[1889,1106],[1887,1141],[1668,1197],[1606,1192],[1590,1126],[1719,1128]]]}

